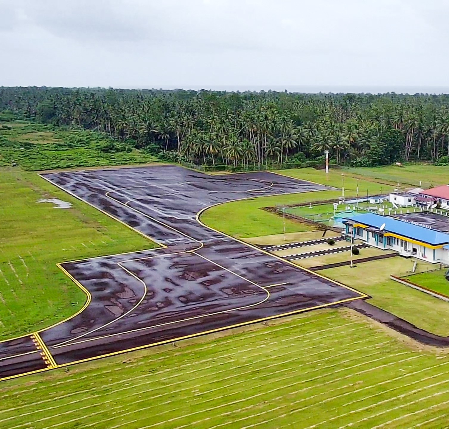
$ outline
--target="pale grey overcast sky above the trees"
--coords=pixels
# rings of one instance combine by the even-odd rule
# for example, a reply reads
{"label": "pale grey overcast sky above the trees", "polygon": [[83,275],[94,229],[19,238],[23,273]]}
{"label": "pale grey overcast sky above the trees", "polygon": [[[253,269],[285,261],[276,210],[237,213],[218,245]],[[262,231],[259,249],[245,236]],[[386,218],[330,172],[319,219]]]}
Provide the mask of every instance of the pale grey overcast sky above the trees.
{"label": "pale grey overcast sky above the trees", "polygon": [[446,0],[0,0],[0,85],[449,92],[448,17]]}

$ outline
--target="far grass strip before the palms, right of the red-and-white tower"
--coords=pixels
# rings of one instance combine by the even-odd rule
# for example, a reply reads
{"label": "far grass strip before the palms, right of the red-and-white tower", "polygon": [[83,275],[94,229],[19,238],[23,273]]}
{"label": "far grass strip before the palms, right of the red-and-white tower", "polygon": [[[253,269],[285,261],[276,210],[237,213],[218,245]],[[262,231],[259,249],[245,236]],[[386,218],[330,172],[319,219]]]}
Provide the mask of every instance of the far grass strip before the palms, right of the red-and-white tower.
{"label": "far grass strip before the palms, right of the red-and-white tower", "polygon": [[382,167],[359,167],[344,169],[345,174],[371,177],[376,180],[386,180],[392,183],[409,184],[422,188],[429,188],[431,185],[438,186],[448,184],[449,166],[436,166],[428,164],[411,164],[403,167],[390,165]]}

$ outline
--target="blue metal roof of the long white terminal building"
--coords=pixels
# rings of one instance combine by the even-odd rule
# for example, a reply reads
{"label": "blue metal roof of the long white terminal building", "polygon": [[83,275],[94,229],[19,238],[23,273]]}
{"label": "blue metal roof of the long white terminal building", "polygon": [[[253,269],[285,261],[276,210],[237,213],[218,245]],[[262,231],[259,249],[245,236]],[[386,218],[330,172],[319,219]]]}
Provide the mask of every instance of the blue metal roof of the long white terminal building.
{"label": "blue metal roof of the long white terminal building", "polygon": [[[363,215],[349,216],[348,220],[361,223],[372,228],[380,228],[385,223],[384,232],[392,232],[412,240],[422,241],[430,245],[440,245],[449,243],[449,234],[435,231],[433,229],[420,227],[413,223],[403,222],[392,219],[387,216],[376,215],[374,213],[365,213]],[[343,223],[346,221],[343,221]]]}

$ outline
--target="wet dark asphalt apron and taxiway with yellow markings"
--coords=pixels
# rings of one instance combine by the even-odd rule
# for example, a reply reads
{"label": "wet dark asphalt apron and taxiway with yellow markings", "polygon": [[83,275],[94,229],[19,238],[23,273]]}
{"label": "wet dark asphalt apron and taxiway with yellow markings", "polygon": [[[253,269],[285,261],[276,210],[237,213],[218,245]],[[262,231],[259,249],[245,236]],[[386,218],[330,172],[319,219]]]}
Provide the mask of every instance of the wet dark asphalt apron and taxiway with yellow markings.
{"label": "wet dark asphalt apron and taxiway with yellow markings", "polygon": [[[167,246],[62,263],[92,301],[40,332],[57,365],[362,296],[196,219],[220,202],[329,189],[323,185],[269,172],[210,176],[178,166],[42,176]],[[31,337],[0,343],[0,378],[46,368],[41,353]]]}

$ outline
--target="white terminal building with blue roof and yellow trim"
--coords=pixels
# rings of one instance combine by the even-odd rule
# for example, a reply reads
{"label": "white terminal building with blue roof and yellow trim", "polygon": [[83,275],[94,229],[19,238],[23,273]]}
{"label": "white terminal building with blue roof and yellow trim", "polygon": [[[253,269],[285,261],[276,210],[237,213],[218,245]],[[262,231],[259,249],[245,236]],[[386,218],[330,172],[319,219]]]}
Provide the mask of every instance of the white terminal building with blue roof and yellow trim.
{"label": "white terminal building with blue roof and yellow trim", "polygon": [[343,224],[348,241],[361,240],[378,249],[396,250],[402,256],[449,264],[448,233],[374,213],[349,216]]}

